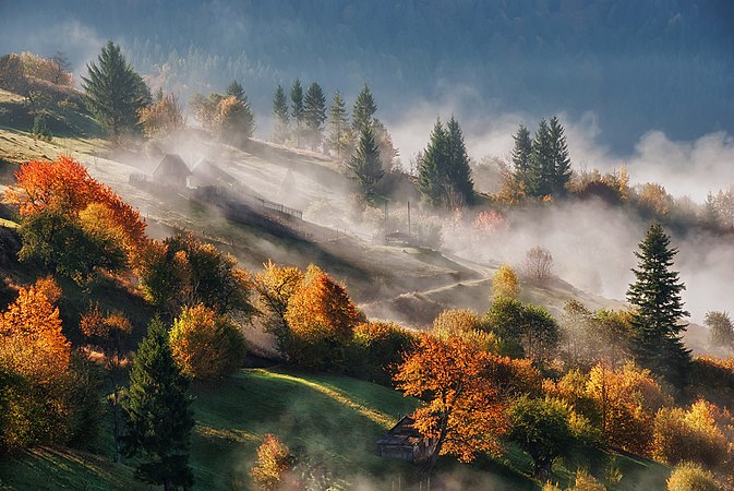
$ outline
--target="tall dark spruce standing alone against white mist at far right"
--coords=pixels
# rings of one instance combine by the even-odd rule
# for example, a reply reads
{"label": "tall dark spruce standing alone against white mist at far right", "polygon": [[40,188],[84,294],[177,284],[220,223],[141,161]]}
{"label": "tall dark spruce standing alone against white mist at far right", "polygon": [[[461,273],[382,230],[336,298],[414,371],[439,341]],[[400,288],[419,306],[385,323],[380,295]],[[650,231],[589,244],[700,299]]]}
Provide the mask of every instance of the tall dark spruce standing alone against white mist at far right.
{"label": "tall dark spruce standing alone against white mist at far right", "polygon": [[635,307],[633,351],[637,362],[681,385],[690,364],[690,351],[683,345],[686,325],[679,321],[689,314],[681,299],[685,285],[671,270],[678,251],[670,242],[660,224],[650,227],[640,251],[635,252],[639,264],[633,273],[637,279],[629,285],[627,301]]}

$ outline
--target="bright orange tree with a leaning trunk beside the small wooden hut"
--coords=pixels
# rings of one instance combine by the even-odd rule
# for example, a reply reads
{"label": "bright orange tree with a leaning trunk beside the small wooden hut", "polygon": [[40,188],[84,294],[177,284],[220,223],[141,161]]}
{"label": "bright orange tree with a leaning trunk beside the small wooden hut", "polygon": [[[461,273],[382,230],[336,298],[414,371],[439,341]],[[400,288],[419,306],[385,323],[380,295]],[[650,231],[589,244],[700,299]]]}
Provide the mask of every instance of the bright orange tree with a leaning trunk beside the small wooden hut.
{"label": "bright orange tree with a leaning trunk beside the small wooden hut", "polygon": [[471,462],[478,453],[500,452],[498,439],[508,422],[497,385],[485,374],[491,360],[491,355],[456,337],[444,340],[424,334],[399,367],[397,387],[422,400],[412,418],[414,428],[431,442],[426,474],[438,455]]}

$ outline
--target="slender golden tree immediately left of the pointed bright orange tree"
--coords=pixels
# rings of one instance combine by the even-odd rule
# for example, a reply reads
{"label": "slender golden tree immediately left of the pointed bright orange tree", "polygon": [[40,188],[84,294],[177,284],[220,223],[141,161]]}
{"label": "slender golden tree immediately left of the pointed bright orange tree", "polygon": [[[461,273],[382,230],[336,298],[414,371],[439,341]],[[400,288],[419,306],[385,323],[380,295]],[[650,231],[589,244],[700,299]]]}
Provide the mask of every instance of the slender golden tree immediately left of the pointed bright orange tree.
{"label": "slender golden tree immediately left of the pointed bright orange tree", "polygon": [[265,330],[277,340],[277,349],[287,356],[290,328],[286,321],[288,301],[300,288],[303,272],[294,266],[277,266],[273,261],[264,264],[264,270],[255,276],[254,288],[258,294],[261,310],[270,315],[265,321]]}

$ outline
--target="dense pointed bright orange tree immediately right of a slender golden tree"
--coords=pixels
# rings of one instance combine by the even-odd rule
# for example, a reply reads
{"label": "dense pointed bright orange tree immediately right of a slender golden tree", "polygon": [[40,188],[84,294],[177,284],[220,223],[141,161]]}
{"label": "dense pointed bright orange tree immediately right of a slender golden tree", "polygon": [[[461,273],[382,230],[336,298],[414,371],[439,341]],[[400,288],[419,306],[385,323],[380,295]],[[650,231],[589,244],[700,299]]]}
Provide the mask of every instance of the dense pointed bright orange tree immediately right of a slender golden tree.
{"label": "dense pointed bright orange tree immediately right of a slender golden tree", "polygon": [[360,321],[346,288],[311,264],[288,301],[288,359],[312,370],[341,370],[346,349]]}

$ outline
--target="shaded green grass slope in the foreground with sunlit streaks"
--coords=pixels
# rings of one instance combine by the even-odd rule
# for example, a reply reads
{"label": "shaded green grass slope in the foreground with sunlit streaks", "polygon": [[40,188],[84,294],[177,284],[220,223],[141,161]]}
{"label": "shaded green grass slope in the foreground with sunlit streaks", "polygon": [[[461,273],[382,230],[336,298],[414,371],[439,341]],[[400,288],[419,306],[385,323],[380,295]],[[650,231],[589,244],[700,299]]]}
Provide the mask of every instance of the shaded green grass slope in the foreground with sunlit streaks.
{"label": "shaded green grass slope in the foreground with sunlit streaks", "polygon": [[[191,466],[195,489],[251,489],[249,469],[265,433],[281,439],[322,484],[335,489],[420,489],[418,468],[378,457],[375,441],[414,402],[380,385],[336,375],[306,375],[288,370],[243,370],[220,386],[197,386],[193,405],[196,427]],[[615,489],[643,483],[660,489],[669,470],[624,455],[600,454],[600,468],[613,457],[624,478]],[[519,472],[529,460],[514,447],[497,462],[464,466],[442,460],[433,487],[456,489],[525,489],[541,486]],[[569,463],[570,467],[570,463]],[[324,472],[328,469],[328,472]],[[567,480],[565,467],[556,469]],[[144,490],[130,467],[82,452],[39,448],[0,460],[0,489]],[[425,482],[422,484],[425,489]]]}

